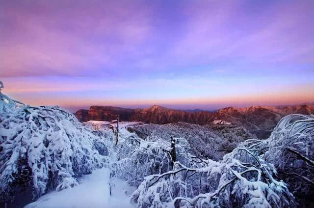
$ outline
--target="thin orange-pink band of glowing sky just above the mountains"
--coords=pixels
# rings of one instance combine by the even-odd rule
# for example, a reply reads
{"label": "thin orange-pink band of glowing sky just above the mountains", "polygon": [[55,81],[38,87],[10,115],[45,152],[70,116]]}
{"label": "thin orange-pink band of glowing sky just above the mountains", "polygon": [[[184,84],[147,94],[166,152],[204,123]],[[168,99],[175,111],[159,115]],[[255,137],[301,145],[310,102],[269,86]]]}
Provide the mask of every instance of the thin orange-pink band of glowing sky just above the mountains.
{"label": "thin orange-pink band of glowing sky just above the mountains", "polygon": [[[305,90],[308,89],[308,90]],[[256,105],[293,105],[314,101],[313,86],[301,86],[293,90],[277,90],[272,92],[263,92],[260,94],[235,94],[232,96],[211,96],[211,97],[190,97],[182,99],[104,99],[99,98],[73,98],[73,97],[50,97],[50,92],[47,96],[36,97],[27,96],[28,93],[20,93],[21,101],[31,105],[59,105],[64,107],[81,107],[91,105],[105,105],[105,106],[150,106],[150,105],[171,105],[171,106],[198,106],[198,105],[217,105],[217,106],[256,106]],[[12,97],[15,91],[8,90]],[[20,92],[20,91],[18,91]]]}

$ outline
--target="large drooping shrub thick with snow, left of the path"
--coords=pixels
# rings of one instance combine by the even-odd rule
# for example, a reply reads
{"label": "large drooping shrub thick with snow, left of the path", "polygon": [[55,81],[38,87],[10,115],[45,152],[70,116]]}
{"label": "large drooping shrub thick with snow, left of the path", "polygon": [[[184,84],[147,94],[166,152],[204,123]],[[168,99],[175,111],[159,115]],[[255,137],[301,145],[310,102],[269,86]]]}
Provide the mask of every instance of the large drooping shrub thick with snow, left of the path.
{"label": "large drooping shrub thick with snow, left of the path", "polygon": [[106,164],[96,150],[100,138],[73,114],[18,104],[0,93],[0,200],[12,200],[22,186],[32,186],[34,198],[72,187],[79,176]]}

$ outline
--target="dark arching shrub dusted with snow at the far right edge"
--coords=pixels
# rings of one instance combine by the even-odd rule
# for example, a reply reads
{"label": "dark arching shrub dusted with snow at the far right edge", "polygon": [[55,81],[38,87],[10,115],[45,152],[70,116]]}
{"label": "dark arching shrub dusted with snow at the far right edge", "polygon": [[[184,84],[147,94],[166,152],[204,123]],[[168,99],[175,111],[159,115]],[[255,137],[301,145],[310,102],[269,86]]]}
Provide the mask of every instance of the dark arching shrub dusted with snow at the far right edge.
{"label": "dark arching shrub dusted with snow at the far right edge", "polygon": [[310,197],[314,195],[313,115],[286,116],[267,140],[248,140],[242,145],[272,163],[296,197],[313,200]]}

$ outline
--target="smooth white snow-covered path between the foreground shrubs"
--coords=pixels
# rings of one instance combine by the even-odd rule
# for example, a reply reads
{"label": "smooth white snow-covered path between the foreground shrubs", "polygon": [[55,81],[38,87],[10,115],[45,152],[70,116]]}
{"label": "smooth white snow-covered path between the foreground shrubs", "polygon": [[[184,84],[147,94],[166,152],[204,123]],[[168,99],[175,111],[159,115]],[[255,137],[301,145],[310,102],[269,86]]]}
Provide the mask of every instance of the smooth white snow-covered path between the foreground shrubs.
{"label": "smooth white snow-covered path between the foreground shrubs", "polygon": [[[62,191],[52,191],[25,208],[134,208],[129,196],[134,191],[127,182],[111,178],[102,168],[82,178],[82,183]],[[109,182],[111,185],[109,185]],[[110,188],[111,186],[111,196]]]}

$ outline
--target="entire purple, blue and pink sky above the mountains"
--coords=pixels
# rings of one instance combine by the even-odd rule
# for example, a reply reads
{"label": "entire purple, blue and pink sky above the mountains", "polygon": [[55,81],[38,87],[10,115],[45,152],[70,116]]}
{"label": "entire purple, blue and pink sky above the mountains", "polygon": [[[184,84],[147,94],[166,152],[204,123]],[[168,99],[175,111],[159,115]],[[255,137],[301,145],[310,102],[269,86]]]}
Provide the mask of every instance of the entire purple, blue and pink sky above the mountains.
{"label": "entire purple, blue and pink sky above the mountains", "polygon": [[313,0],[0,0],[3,93],[31,105],[314,102]]}

